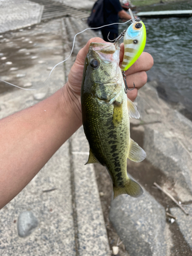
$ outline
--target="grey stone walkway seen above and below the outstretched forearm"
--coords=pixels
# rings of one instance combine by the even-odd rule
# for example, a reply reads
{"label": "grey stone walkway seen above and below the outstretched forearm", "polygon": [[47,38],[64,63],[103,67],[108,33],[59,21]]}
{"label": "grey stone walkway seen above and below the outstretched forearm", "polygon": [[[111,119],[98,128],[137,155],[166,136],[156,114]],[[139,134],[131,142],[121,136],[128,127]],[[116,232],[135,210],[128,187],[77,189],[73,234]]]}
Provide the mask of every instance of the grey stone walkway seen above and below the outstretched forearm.
{"label": "grey stone walkway seen above and below the outstretched forearm", "polygon": [[[1,77],[26,89],[40,87],[51,68],[69,55],[71,42],[66,24],[73,29],[75,22],[74,18],[73,22],[69,18],[57,19],[6,33],[1,38]],[[80,28],[85,26],[81,20],[78,23]],[[90,33],[83,40],[77,39],[76,50],[93,36]],[[0,94],[0,118],[25,109],[62,87],[75,56],[64,66],[59,65],[45,86],[36,91],[1,83],[4,92]],[[88,152],[81,127],[0,211],[0,255],[111,255],[94,168],[84,165]],[[20,229],[25,229],[28,236],[19,237]]]}

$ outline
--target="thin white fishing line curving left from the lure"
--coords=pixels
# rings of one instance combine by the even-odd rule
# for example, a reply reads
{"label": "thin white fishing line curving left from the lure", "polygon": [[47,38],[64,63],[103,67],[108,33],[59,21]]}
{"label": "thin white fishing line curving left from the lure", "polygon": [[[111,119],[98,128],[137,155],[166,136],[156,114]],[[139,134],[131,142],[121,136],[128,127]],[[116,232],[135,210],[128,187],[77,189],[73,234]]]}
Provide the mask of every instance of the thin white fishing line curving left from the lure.
{"label": "thin white fishing line curving left from the lure", "polygon": [[68,59],[71,57],[71,54],[72,54],[72,52],[73,52],[74,45],[75,45],[75,38],[76,38],[76,36],[77,36],[77,35],[79,35],[79,34],[83,33],[83,32],[84,32],[84,31],[86,31],[86,30],[89,30],[89,29],[101,29],[101,28],[103,28],[103,27],[108,27],[108,26],[116,25],[116,24],[118,24],[118,25],[123,25],[123,24],[126,24],[126,23],[130,22],[131,20],[133,21],[133,19],[130,19],[130,20],[127,20],[127,21],[126,21],[126,22],[124,22],[124,23],[112,23],[112,24],[104,25],[104,26],[101,26],[101,27],[98,27],[98,28],[87,28],[87,29],[84,29],[83,31],[81,31],[81,32],[77,33],[77,34],[74,36],[74,39],[73,39],[73,46],[72,46],[72,49],[71,49],[71,53],[70,53],[70,55],[67,57],[67,59],[62,60],[61,62],[57,63],[57,64],[53,67],[53,69],[51,70],[51,72],[50,72],[50,74],[49,74],[48,78],[45,80],[45,82],[42,84],[42,86],[40,86],[40,87],[38,87],[38,88],[35,88],[35,89],[26,89],[26,88],[23,88],[23,87],[16,86],[16,85],[15,85],[15,84],[13,84],[13,83],[10,83],[10,82],[7,82],[7,81],[4,81],[4,80],[2,80],[1,78],[0,78],[0,81],[5,82],[5,83],[8,83],[8,84],[10,84],[11,86],[14,86],[14,87],[17,87],[17,88],[19,88],[19,89],[26,90],[26,91],[34,91],[34,90],[38,90],[38,89],[40,89],[40,88],[42,88],[42,87],[44,87],[44,86],[45,86],[45,83],[46,83],[46,82],[47,82],[47,80],[49,79],[49,77],[50,77],[51,73],[53,72],[53,70],[54,70],[54,69],[55,69],[59,64],[61,64],[61,63],[65,62],[66,60],[68,60]]}

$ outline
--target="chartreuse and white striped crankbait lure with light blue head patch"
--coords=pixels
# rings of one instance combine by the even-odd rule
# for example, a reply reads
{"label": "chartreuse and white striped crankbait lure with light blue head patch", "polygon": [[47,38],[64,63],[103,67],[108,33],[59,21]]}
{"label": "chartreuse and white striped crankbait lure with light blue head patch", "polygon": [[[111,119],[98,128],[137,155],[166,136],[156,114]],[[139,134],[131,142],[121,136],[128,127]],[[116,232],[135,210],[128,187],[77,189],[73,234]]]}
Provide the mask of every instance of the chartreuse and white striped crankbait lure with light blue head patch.
{"label": "chartreuse and white striped crankbait lure with light blue head patch", "polygon": [[124,56],[121,70],[126,71],[139,58],[144,50],[146,42],[146,29],[143,22],[135,19],[131,9],[129,10],[132,17],[132,24],[124,33]]}

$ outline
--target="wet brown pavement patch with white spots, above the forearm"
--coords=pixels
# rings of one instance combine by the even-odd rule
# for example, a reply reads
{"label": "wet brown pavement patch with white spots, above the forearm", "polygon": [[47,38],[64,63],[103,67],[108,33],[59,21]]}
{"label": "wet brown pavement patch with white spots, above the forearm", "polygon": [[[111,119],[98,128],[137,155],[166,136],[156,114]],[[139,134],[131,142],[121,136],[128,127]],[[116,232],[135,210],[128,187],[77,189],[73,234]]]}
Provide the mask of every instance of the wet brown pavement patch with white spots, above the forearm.
{"label": "wet brown pavement patch with white spots, above the forearm", "polygon": [[[57,24],[57,25],[56,25]],[[51,27],[50,29],[49,26]],[[0,36],[0,77],[9,83],[19,87],[39,88],[48,77],[56,55],[62,54],[60,33],[54,29],[58,21],[37,26],[28,27],[25,30],[4,33]],[[52,31],[50,33],[50,30]],[[57,48],[57,49],[56,49]],[[59,50],[61,51],[58,51]],[[33,77],[37,73],[31,69],[44,70],[44,78],[41,83],[35,83]],[[38,74],[42,76],[42,74]],[[31,84],[31,86],[30,86]],[[7,83],[0,82],[0,93],[6,93],[16,89]]]}

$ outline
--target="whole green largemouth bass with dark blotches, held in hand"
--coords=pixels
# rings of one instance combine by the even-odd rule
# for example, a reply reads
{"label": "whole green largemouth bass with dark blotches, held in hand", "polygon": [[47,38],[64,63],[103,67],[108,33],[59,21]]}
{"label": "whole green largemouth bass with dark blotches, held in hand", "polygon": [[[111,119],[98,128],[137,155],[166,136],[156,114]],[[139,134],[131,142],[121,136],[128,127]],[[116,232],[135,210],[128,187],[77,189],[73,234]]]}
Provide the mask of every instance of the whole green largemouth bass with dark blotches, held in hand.
{"label": "whole green largemouth bass with dark blotches, held in hand", "polygon": [[127,158],[140,162],[146,154],[130,138],[130,117],[139,118],[134,103],[124,92],[119,68],[119,42],[92,42],[81,86],[82,122],[89,141],[88,163],[100,163],[113,181],[114,198],[121,194],[138,197],[138,183],[127,176]]}

